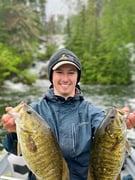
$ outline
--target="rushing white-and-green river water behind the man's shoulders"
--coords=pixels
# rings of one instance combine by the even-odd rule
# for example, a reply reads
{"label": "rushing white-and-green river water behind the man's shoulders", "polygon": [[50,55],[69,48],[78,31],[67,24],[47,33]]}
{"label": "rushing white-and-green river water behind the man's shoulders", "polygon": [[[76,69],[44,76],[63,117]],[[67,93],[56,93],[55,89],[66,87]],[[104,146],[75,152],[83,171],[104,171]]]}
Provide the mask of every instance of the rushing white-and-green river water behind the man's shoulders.
{"label": "rushing white-and-green river water behind the man's shoulders", "polygon": [[[21,83],[13,84],[7,81],[5,86],[0,87],[0,115],[5,112],[6,106],[15,106],[20,101],[30,103],[38,101],[48,90],[48,80],[38,79],[33,85],[27,86]],[[129,86],[116,85],[80,85],[85,98],[105,110],[112,106],[129,106],[135,110],[135,83]],[[0,148],[1,141],[6,132],[0,125]]]}

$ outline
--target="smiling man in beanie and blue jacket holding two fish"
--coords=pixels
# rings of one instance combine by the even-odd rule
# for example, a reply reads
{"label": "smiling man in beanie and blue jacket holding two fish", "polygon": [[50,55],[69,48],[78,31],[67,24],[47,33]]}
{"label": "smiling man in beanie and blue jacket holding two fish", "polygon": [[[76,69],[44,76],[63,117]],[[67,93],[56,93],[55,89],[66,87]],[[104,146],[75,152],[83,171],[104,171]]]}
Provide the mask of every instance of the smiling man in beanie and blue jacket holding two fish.
{"label": "smiling man in beanie and blue jacket holding two fish", "polygon": [[[78,85],[81,64],[78,57],[67,49],[58,50],[48,65],[51,82],[49,91],[39,102],[31,103],[53,130],[67,161],[70,180],[86,180],[89,154],[94,136],[105,112],[86,101]],[[6,110],[9,111],[11,107]],[[128,108],[124,108],[129,111]],[[2,116],[3,127],[9,132],[4,141],[7,151],[16,154],[16,126],[14,118]],[[128,116],[127,127],[135,125],[135,113]],[[34,180],[32,173],[29,179]]]}

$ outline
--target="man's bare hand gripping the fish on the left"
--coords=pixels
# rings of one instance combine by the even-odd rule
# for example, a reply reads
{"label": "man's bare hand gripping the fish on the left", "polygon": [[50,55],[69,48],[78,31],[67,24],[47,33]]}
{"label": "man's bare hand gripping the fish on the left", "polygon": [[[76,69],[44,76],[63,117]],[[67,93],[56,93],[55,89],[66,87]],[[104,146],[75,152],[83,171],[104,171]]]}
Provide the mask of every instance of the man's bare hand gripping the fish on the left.
{"label": "man's bare hand gripping the fish on the left", "polygon": [[[6,112],[12,110],[12,107],[6,107]],[[15,124],[15,119],[13,116],[11,116],[10,114],[6,113],[3,114],[2,118],[2,125],[3,128],[6,129],[8,132],[16,132],[16,124]]]}

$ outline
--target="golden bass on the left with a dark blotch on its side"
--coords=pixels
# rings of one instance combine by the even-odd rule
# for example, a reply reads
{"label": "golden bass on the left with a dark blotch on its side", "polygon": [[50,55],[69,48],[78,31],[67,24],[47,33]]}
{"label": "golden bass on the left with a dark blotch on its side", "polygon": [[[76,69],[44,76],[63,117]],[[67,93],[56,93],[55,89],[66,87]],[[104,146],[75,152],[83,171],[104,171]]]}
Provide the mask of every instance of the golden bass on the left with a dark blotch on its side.
{"label": "golden bass on the left with a dark blotch on its side", "polygon": [[22,156],[38,180],[69,180],[69,170],[48,123],[25,102],[10,112],[15,118]]}

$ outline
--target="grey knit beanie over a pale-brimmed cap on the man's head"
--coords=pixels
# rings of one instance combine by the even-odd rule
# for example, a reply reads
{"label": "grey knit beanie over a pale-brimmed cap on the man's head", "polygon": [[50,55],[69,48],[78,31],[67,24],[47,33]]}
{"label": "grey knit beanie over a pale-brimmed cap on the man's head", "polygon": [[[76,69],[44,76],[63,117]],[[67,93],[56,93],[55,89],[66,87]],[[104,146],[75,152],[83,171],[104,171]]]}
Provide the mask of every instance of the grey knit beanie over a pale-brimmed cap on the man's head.
{"label": "grey knit beanie over a pale-brimmed cap on the man's head", "polygon": [[78,59],[78,57],[70,50],[68,49],[60,49],[56,53],[54,53],[48,64],[48,78],[50,82],[52,82],[52,71],[57,69],[63,64],[72,64],[74,65],[78,70],[78,79],[77,83],[80,81],[81,77],[81,63]]}

